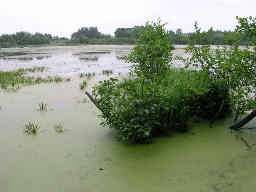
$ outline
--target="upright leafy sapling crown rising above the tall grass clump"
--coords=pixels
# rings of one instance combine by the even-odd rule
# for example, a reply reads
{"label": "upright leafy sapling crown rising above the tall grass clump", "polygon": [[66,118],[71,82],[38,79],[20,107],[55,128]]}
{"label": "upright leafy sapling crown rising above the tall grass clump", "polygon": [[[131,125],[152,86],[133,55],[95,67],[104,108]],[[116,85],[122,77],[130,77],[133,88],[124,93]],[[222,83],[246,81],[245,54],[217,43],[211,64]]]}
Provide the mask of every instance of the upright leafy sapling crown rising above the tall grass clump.
{"label": "upright leafy sapling crown rising above the tall grass clump", "polygon": [[153,74],[160,74],[170,68],[172,61],[172,46],[168,40],[168,31],[165,24],[158,22],[146,22],[145,30],[140,31],[140,38],[128,56],[124,56],[126,62],[133,64],[132,69],[139,77],[150,78]]}

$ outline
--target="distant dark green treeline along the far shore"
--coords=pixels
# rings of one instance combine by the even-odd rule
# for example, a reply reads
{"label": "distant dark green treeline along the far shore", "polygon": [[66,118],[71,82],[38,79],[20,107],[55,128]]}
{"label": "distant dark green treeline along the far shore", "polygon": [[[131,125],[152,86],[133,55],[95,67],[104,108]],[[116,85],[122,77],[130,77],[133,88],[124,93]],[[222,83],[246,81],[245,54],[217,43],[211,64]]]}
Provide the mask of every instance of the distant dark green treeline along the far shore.
{"label": "distant dark green treeline along the far shore", "polygon": [[[59,38],[51,34],[16,32],[12,35],[0,36],[0,47],[23,47],[33,45],[55,46],[55,45],[121,45],[135,44],[135,40],[139,38],[139,31],[144,30],[144,26],[134,26],[131,28],[118,28],[115,31],[115,36],[103,34],[98,31],[97,27],[82,27],[78,31],[71,34],[71,38]],[[206,38],[203,44],[211,45],[226,45],[225,36],[234,33],[234,31],[211,31],[205,32]],[[172,44],[186,44],[186,40],[193,40],[193,33],[182,33],[178,28],[176,31],[169,31],[170,41]],[[240,35],[240,45],[248,45],[251,39],[247,38],[243,33]]]}

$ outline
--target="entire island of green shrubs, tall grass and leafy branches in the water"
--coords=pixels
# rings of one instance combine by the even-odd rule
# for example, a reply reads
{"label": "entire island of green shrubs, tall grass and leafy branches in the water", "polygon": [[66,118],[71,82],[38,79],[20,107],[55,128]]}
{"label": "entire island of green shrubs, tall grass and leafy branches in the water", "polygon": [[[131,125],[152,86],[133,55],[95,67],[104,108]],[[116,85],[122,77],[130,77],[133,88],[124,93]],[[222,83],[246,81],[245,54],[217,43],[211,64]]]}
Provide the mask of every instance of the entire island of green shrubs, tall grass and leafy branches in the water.
{"label": "entire island of green shrubs, tall grass and leafy branches in the water", "polygon": [[193,117],[211,118],[210,126],[233,111],[236,117],[252,111],[252,119],[256,115],[255,20],[238,20],[237,31],[254,40],[253,50],[239,49],[237,32],[226,37],[230,48],[218,47],[213,53],[209,45],[201,46],[212,29],[201,32],[196,22],[194,38],[187,40],[185,49],[192,57],[179,58],[185,68],[171,68],[165,24],[147,22],[133,51],[124,57],[135,63],[131,65],[135,76],[120,83],[117,78],[100,81],[93,87],[95,98],[86,92],[102,112],[101,124],[116,129],[123,142],[148,143],[159,134],[189,131]]}

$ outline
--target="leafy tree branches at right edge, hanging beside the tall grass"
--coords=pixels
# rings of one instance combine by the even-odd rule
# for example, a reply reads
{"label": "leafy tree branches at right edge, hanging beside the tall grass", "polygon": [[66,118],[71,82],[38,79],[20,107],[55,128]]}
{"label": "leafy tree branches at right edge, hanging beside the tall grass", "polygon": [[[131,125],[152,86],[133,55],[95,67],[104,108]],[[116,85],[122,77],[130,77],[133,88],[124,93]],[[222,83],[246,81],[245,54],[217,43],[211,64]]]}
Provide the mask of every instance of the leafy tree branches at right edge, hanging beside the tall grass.
{"label": "leafy tree branches at right edge, hanging beside the tall grass", "polygon": [[[240,22],[243,26],[241,29],[246,28],[244,25],[249,25],[244,18],[240,18]],[[186,67],[195,67],[196,73],[202,75],[211,85],[205,87],[209,90],[205,106],[213,111],[214,116],[211,124],[216,118],[223,118],[225,113],[230,113],[231,109],[235,110],[236,118],[245,111],[255,110],[255,45],[253,50],[249,46],[244,50],[240,49],[238,34],[234,34],[226,37],[229,48],[218,47],[213,52],[210,45],[200,46],[202,40],[206,38],[206,33],[201,33],[197,22],[194,26],[196,40],[188,41],[185,49],[186,53],[192,54],[192,57],[183,61]],[[248,26],[250,30],[251,26],[255,25],[250,24],[250,27]],[[208,33],[211,31],[212,29]]]}

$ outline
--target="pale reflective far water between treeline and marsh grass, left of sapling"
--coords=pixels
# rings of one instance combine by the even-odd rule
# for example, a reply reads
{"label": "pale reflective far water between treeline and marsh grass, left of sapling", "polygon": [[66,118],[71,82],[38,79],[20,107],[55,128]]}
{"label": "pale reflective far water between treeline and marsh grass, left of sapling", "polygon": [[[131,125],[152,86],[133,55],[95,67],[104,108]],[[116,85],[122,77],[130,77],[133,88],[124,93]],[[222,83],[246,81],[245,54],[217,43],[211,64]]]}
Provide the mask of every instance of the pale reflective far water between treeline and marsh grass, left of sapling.
{"label": "pale reflective far water between treeline and marsh grass, left of sapling", "polygon": [[133,45],[55,46],[40,48],[2,48],[0,70],[49,67],[47,73],[70,76],[80,72],[100,72],[112,69],[115,73],[128,71],[120,60]]}

